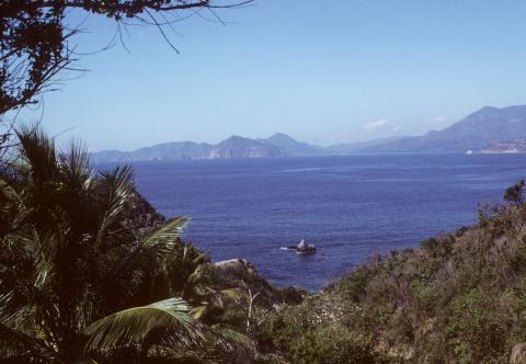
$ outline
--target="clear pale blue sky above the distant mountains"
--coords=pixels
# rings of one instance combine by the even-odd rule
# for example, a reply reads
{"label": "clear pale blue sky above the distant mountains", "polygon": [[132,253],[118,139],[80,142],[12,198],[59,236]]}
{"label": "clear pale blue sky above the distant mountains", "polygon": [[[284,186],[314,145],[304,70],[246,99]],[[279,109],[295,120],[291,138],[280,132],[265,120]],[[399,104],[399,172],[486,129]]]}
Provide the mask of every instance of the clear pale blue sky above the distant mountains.
{"label": "clear pale blue sky above the distant mountains", "polygon": [[[117,43],[83,57],[90,72],[45,96],[46,129],[93,150],[275,132],[330,145],[526,103],[524,0],[258,0],[219,14],[230,23],[194,16],[167,31],[181,54],[130,26],[129,53]],[[116,30],[94,15],[83,27],[80,52]]]}

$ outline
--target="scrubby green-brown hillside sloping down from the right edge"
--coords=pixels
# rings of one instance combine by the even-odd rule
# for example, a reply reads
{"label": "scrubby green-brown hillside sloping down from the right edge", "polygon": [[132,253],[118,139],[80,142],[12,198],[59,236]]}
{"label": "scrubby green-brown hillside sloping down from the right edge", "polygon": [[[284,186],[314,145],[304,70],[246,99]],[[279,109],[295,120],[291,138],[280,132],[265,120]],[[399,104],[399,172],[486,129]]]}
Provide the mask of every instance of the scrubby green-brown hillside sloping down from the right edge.
{"label": "scrubby green-brown hillside sloping down from the right edge", "polygon": [[272,316],[260,346],[293,363],[508,363],[525,294],[526,206],[495,206]]}

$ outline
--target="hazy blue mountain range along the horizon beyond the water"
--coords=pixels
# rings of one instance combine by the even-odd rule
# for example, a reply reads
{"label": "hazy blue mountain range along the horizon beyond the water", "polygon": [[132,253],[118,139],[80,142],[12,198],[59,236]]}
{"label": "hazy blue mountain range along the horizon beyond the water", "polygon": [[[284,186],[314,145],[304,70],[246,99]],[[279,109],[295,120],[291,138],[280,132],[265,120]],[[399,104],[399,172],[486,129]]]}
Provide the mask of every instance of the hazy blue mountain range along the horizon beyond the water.
{"label": "hazy blue mountain range along the horizon beyond the water", "polygon": [[100,162],[129,162],[181,159],[277,158],[347,155],[357,152],[525,152],[526,105],[485,106],[443,130],[423,136],[405,136],[320,147],[297,141],[286,134],[266,139],[231,136],[216,145],[173,141],[134,151],[103,150],[92,153]]}

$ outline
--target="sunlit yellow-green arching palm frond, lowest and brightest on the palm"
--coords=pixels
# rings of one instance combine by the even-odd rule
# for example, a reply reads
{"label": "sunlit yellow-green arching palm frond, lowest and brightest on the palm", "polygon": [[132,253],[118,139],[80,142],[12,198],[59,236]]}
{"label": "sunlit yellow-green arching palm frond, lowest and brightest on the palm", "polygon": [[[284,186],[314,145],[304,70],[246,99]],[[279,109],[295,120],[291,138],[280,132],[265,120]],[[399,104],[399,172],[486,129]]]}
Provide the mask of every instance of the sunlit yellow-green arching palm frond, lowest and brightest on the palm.
{"label": "sunlit yellow-green arching palm frond, lowest and brightest on the palm", "polygon": [[202,334],[188,311],[190,306],[183,299],[169,298],[115,312],[88,327],[85,349],[101,351],[140,343],[159,330],[191,344]]}

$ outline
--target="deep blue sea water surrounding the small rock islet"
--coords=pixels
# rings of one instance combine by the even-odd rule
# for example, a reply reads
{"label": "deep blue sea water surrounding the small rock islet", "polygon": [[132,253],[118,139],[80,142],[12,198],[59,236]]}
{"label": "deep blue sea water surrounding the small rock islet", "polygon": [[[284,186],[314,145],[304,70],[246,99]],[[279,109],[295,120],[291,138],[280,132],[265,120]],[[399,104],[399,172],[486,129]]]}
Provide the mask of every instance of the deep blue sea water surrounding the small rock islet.
{"label": "deep blue sea water surrounding the small rock islet", "polygon": [[[474,223],[526,177],[523,155],[356,155],[133,163],[138,190],[214,261],[245,258],[276,284],[318,289],[373,253]],[[281,247],[305,238],[313,255]]]}

